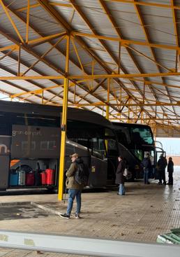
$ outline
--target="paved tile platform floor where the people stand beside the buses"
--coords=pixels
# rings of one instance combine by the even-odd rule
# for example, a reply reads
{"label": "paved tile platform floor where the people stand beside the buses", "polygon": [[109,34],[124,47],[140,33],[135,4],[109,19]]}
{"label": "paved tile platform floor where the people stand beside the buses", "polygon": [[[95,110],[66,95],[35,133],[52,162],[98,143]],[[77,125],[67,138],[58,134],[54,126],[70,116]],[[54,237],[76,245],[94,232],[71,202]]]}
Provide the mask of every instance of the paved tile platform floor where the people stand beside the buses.
{"label": "paved tile platform floor where the people stand beside the buses", "polygon": [[[174,172],[174,186],[160,186],[158,181],[151,180],[150,185],[144,185],[142,181],[126,183],[125,196],[117,195],[117,190],[82,193],[81,219],[74,218],[75,206],[69,220],[53,214],[64,213],[67,207],[67,201],[58,202],[56,194],[0,196],[0,204],[30,201],[47,207],[50,212],[44,211],[45,216],[32,215],[31,218],[24,218],[23,213],[17,214],[17,218],[4,217],[0,220],[1,230],[156,242],[159,234],[180,227],[180,167]],[[0,208],[2,213],[3,206]],[[38,254],[36,251],[0,249],[0,256],[32,257]],[[69,255],[43,253],[41,256]]]}

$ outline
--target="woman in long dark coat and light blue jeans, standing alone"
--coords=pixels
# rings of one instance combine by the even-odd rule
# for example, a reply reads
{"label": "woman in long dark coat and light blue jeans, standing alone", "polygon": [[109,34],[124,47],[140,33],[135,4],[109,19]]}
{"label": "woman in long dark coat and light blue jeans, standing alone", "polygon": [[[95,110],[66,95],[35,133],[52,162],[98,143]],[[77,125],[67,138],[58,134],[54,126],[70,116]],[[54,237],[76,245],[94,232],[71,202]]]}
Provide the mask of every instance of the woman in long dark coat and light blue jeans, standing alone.
{"label": "woman in long dark coat and light blue jeans, standing alone", "polygon": [[123,161],[123,158],[121,156],[118,157],[118,167],[117,167],[117,173],[116,173],[116,184],[119,184],[119,192],[117,195],[125,195],[125,187],[124,187],[124,176],[123,172],[126,167],[126,163]]}

